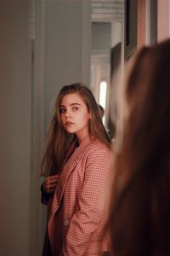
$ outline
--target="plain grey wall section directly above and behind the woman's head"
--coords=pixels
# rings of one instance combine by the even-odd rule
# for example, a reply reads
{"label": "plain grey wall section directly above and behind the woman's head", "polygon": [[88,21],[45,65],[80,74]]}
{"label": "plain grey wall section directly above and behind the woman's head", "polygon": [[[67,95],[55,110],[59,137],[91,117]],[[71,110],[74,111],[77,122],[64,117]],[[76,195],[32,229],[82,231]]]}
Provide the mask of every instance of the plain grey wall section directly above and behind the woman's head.
{"label": "plain grey wall section directly above and behind the woman's head", "polygon": [[89,85],[90,1],[48,1],[45,4],[45,120],[52,99],[65,84]]}

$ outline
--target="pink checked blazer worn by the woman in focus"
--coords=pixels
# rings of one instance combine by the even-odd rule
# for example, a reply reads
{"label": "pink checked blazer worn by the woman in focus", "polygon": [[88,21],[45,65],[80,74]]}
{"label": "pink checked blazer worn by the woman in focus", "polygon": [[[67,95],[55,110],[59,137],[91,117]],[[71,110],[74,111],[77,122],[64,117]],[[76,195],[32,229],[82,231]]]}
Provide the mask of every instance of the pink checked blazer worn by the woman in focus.
{"label": "pink checked blazer worn by the woman in focus", "polygon": [[[86,137],[66,162],[48,201],[47,239],[51,255],[88,256],[109,251],[104,234],[111,182],[111,150]],[[45,204],[47,201],[43,199]],[[43,255],[50,255],[43,253]]]}

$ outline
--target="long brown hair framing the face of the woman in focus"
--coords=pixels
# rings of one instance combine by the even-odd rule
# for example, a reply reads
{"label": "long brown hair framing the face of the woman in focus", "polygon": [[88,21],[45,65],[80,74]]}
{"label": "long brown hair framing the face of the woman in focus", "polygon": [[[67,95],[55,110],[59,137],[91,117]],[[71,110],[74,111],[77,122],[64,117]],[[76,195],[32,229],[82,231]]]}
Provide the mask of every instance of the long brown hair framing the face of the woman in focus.
{"label": "long brown hair framing the face of the woman in focus", "polygon": [[54,105],[54,117],[48,127],[45,152],[42,158],[42,175],[48,176],[61,172],[65,156],[71,149],[71,145],[77,143],[74,134],[65,131],[59,113],[59,105],[65,95],[77,93],[82,97],[88,112],[91,113],[89,121],[89,135],[98,138],[102,143],[111,147],[111,139],[105,131],[105,127],[99,115],[99,108],[94,95],[85,84],[76,83],[65,85],[60,91]]}

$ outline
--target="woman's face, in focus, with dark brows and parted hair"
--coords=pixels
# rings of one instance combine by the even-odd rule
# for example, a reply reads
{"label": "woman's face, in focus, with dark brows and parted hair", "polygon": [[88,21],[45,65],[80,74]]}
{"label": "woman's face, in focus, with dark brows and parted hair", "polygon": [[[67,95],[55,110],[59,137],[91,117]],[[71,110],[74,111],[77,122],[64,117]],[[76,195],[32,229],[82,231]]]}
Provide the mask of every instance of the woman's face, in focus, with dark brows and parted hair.
{"label": "woman's face, in focus, with dark brows and parted hair", "polygon": [[59,112],[65,131],[75,133],[78,142],[81,143],[83,138],[88,136],[88,122],[91,118],[82,97],[77,93],[63,96]]}

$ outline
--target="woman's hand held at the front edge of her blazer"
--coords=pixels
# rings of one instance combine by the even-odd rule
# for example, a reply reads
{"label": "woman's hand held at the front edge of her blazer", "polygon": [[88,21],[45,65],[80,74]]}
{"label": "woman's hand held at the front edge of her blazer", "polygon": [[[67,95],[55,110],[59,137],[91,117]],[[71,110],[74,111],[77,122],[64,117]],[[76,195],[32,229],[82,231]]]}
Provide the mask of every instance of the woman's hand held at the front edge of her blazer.
{"label": "woman's hand held at the front edge of her blazer", "polygon": [[59,175],[56,174],[54,176],[49,176],[45,179],[44,183],[42,184],[42,190],[44,193],[50,195],[53,194],[56,188],[56,185],[59,180]]}

